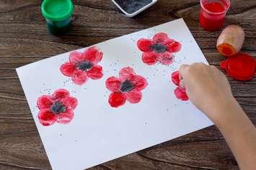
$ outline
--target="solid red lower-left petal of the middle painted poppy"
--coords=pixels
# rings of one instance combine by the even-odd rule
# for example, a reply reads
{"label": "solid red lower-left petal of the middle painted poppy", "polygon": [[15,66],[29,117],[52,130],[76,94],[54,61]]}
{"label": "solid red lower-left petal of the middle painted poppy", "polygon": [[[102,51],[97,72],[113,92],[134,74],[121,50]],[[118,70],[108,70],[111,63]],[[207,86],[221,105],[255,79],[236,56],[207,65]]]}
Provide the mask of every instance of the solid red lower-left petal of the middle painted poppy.
{"label": "solid red lower-left petal of the middle painted poppy", "polygon": [[113,92],[110,94],[110,97],[108,98],[108,103],[110,103],[110,105],[113,108],[118,108],[120,105],[124,105],[125,101],[125,95],[120,92]]}

